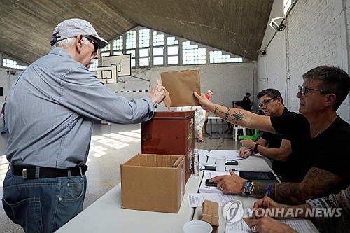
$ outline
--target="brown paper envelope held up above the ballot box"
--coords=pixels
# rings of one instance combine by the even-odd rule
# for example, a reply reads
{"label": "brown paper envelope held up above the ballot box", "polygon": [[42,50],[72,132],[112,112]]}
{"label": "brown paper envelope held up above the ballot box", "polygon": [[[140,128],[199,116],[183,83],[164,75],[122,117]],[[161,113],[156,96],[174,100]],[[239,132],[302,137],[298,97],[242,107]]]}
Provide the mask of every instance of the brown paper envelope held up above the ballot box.
{"label": "brown paper envelope held up above the ballot box", "polygon": [[200,94],[200,71],[172,71],[160,73],[162,85],[172,98],[172,107],[200,106],[193,92]]}

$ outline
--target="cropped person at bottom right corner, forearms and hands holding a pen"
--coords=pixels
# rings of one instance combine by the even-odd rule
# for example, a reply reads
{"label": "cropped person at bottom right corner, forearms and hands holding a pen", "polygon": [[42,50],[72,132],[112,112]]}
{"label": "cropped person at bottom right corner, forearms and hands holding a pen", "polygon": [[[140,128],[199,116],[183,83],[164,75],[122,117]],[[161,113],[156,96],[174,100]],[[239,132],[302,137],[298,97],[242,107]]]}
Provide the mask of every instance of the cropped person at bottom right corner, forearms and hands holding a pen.
{"label": "cropped person at bottom right corner, forearms and hands holding a pen", "polygon": [[[332,194],[329,195],[329,197],[309,199],[306,201],[306,204],[299,206],[281,206],[269,197],[266,197],[265,200],[260,199],[258,202],[255,202],[254,208],[257,209],[257,211],[260,211],[260,207],[263,209],[274,209],[274,212],[268,212],[269,214],[274,214],[263,216],[258,219],[247,218],[247,224],[251,227],[253,232],[297,232],[289,225],[281,223],[274,218],[311,218],[309,213],[316,213],[316,209],[322,209],[322,211],[317,211],[318,216],[312,216],[312,219],[320,232],[349,232],[350,186],[346,188],[346,190],[339,192],[337,195]],[[333,215],[328,214],[332,211]],[[340,213],[340,216],[338,212]],[[267,211],[265,211],[265,213],[267,213]]]}

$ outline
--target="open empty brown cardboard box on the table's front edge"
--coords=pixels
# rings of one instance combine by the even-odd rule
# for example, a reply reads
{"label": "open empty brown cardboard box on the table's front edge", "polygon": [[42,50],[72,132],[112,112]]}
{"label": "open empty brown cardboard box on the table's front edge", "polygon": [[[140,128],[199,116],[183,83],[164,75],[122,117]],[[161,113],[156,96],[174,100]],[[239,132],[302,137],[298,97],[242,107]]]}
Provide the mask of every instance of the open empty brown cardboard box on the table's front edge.
{"label": "open empty brown cardboard box on the table's front edge", "polygon": [[120,165],[122,208],[178,213],[185,193],[183,155],[138,154]]}

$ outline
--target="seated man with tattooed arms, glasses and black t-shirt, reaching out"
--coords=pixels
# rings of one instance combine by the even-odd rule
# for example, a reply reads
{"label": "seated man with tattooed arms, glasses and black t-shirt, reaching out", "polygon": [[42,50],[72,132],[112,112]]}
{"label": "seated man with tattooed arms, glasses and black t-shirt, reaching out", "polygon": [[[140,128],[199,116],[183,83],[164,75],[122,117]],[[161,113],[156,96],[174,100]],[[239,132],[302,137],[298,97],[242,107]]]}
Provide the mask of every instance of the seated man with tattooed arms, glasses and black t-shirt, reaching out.
{"label": "seated man with tattooed arms, glasses and black t-shirt, reaching out", "polygon": [[[293,154],[300,161],[300,183],[275,183],[270,197],[276,202],[304,204],[307,199],[338,193],[350,184],[350,160],[346,149],[350,139],[350,125],[336,111],[349,94],[349,75],[339,67],[318,66],[302,76],[299,86],[301,114],[274,117],[257,115],[237,108],[211,103],[204,94],[195,97],[202,108],[237,125],[265,132],[283,134],[293,146]],[[257,146],[258,147],[258,146]],[[216,176],[217,186],[224,193],[263,197],[268,183],[240,178],[230,169],[231,176]],[[244,190],[245,188],[245,190]]]}

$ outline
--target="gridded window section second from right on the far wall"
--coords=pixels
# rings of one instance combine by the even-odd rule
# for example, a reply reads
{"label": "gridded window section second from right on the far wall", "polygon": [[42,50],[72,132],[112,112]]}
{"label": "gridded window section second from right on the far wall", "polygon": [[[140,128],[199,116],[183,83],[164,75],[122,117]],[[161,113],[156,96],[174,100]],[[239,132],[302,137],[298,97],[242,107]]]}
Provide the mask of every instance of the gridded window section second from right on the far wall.
{"label": "gridded window section second from right on the far wall", "polygon": [[207,50],[198,48],[198,45],[191,45],[190,41],[182,43],[182,63],[183,64],[206,64]]}

